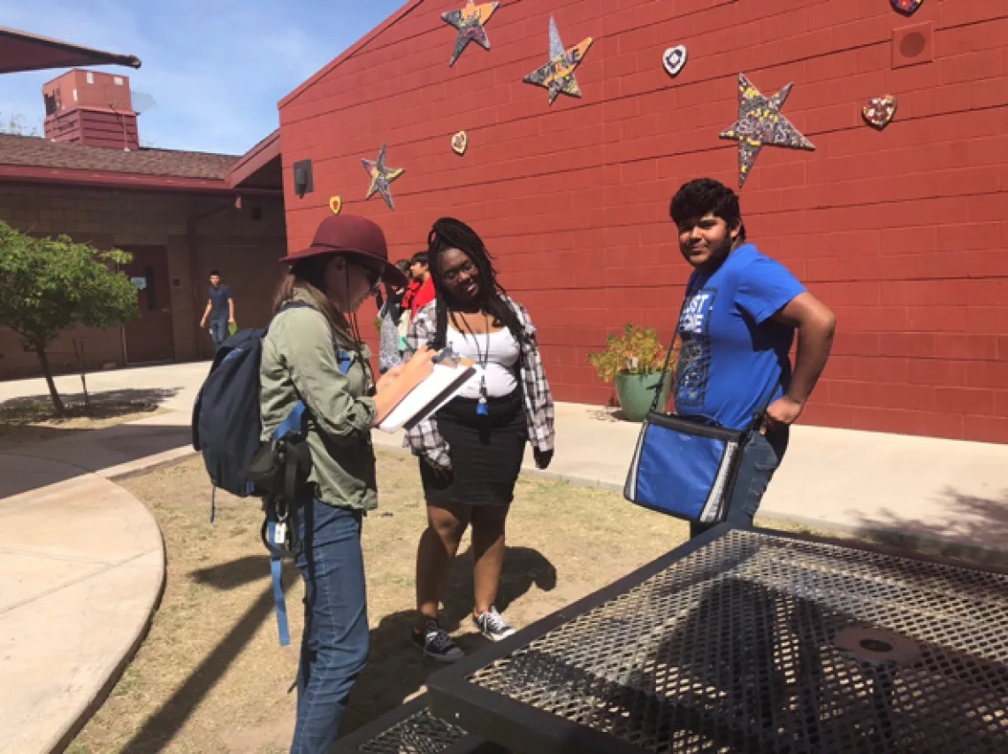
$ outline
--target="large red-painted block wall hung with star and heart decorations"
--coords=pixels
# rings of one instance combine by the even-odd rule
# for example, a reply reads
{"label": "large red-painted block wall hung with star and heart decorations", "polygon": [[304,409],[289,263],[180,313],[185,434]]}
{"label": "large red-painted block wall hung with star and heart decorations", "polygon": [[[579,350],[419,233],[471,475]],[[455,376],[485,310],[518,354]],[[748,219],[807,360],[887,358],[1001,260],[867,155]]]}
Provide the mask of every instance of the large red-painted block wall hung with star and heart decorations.
{"label": "large red-painted block wall hung with star and heart decorations", "polygon": [[[291,246],[342,195],[378,219],[393,253],[433,219],[471,222],[526,303],[557,398],[602,403],[585,356],[626,322],[671,333],[688,270],[667,218],[684,181],[737,185],[737,76],[764,94],[795,87],[784,113],[814,152],[767,147],[742,193],[750,237],[840,319],[806,413],[837,427],[1008,442],[1008,4],[928,0],[522,0],[455,68],[440,12],[419,3],[280,112]],[[568,46],[595,45],[584,99],[523,84],[547,59],[553,14]],[[933,61],[894,68],[894,30],[933,24]],[[689,62],[677,79],[661,52]],[[899,98],[877,132],[870,97]],[[450,149],[467,129],[468,154]],[[361,158],[387,140],[397,211],[364,203]],[[310,158],[313,194],[289,166]]]}

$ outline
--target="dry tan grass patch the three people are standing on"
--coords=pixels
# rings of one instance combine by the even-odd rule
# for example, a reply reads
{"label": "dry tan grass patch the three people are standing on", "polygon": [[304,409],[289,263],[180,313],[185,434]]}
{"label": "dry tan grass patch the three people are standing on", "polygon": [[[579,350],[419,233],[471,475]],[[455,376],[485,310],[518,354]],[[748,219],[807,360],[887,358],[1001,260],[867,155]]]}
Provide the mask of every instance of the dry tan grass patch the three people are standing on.
{"label": "dry tan grass patch the three people are standing on", "polygon": [[[438,669],[408,639],[416,542],[425,525],[415,461],[379,452],[381,509],[365,521],[371,656],[355,687],[344,733],[397,707]],[[72,754],[256,752],[289,749],[302,626],[303,587],[287,574],[292,645],[277,644],[269,565],[255,503],[218,495],[198,458],[120,481],[157,518],[167,583],[153,627]],[[684,524],[639,510],[612,493],[521,479],[508,519],[499,607],[525,626],[667,552]],[[467,651],[484,645],[472,610],[468,538],[446,615]]]}

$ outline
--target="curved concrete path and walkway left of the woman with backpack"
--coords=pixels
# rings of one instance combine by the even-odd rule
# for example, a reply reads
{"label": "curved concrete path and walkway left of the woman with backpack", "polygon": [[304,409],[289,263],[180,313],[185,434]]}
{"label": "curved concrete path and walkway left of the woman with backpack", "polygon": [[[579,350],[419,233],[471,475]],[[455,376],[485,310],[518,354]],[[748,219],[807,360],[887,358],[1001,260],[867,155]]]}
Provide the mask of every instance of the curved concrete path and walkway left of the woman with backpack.
{"label": "curved concrete path and walkway left of the woman with backpack", "polygon": [[[147,509],[110,479],[191,452],[187,386],[204,374],[97,374],[93,394],[156,394],[175,411],[0,452],[0,752],[61,751],[139,647],[164,550]],[[80,390],[58,382],[65,397]],[[41,381],[0,385],[0,403],[36,395],[47,400]]]}

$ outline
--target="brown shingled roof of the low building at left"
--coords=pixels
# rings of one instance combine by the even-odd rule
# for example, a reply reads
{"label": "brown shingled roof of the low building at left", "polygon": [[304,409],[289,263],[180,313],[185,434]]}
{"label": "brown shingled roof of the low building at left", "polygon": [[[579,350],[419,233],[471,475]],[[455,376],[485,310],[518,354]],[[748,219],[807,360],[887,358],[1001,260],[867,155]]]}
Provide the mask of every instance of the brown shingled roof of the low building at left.
{"label": "brown shingled roof of the low building at left", "polygon": [[125,151],[0,134],[0,166],[223,181],[238,159],[232,154],[145,148]]}

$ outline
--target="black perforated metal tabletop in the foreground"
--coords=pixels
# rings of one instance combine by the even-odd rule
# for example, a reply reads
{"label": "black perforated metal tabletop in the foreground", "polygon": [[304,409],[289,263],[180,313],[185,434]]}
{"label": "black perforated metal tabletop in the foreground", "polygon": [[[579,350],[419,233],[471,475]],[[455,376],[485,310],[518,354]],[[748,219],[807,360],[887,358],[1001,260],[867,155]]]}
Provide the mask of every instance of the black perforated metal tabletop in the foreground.
{"label": "black perforated metal tabletop in the foreground", "polygon": [[515,752],[1004,754],[1008,575],[723,526],[429,689]]}

